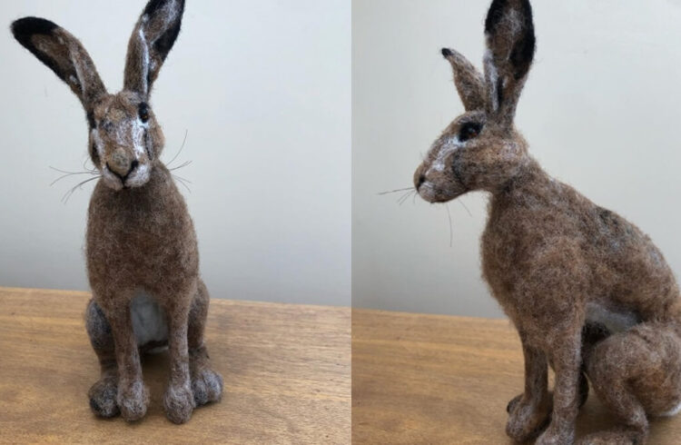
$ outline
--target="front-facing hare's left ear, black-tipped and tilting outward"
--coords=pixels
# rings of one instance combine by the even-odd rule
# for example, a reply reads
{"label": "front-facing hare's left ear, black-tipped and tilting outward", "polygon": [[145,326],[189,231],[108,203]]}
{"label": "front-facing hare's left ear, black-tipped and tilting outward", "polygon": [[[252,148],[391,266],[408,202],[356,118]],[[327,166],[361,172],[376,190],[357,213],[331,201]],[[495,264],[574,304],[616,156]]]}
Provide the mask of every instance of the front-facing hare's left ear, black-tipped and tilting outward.
{"label": "front-facing hare's left ear, black-tipped and tilting outward", "polygon": [[12,24],[12,34],[71,87],[87,112],[92,111],[97,98],[106,94],[83,44],[64,28],[44,18],[24,17]]}

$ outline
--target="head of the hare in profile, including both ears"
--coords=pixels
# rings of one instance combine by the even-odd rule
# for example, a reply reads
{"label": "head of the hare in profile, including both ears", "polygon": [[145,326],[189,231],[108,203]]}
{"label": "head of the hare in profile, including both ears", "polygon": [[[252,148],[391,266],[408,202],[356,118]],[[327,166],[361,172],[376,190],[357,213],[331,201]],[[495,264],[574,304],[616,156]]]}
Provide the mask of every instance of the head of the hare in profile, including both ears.
{"label": "head of the hare in profile, including both ears", "polygon": [[414,186],[430,203],[473,190],[499,190],[530,159],[527,143],[513,125],[535,52],[528,0],[494,0],[485,36],[484,75],[463,55],[442,49],[466,112],[449,124],[414,173]]}

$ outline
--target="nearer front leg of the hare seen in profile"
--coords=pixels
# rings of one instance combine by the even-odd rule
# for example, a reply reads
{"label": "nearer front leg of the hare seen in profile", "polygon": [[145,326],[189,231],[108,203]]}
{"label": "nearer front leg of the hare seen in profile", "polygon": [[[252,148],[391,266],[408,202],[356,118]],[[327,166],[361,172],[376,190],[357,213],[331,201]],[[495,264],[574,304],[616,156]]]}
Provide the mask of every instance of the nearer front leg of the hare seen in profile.
{"label": "nearer front leg of the hare seen in profile", "polygon": [[[577,324],[577,323],[573,323]],[[556,371],[551,422],[537,445],[564,445],[575,440],[581,378],[581,330],[549,331],[548,348]]]}

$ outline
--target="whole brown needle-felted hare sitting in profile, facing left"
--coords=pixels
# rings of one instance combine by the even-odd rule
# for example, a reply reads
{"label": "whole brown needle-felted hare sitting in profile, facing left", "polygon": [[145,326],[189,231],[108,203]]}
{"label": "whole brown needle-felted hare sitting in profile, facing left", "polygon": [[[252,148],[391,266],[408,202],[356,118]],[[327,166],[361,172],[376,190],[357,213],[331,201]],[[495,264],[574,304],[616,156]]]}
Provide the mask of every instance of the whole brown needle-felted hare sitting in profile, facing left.
{"label": "whole brown needle-felted hare sitting in profile, facing left", "polygon": [[466,112],[433,143],[414,185],[430,203],[491,195],[482,273],[525,357],[525,390],[508,403],[507,433],[572,443],[588,378],[620,423],[581,443],[642,443],[648,416],[681,409],[676,280],[646,234],[548,176],[528,154],[513,124],[535,52],[528,0],[494,0],[485,35],[484,74],[442,50]]}

